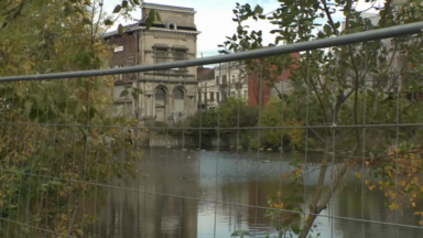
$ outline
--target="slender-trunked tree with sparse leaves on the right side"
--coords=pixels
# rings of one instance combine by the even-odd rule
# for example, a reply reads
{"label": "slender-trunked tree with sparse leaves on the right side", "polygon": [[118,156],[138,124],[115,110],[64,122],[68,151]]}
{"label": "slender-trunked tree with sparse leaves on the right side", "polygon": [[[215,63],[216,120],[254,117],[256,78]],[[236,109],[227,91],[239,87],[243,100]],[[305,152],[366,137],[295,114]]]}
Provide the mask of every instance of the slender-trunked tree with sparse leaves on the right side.
{"label": "slender-trunked tree with sparse leaves on the right side", "polygon": [[[262,47],[262,32],[250,31],[245,25],[245,21],[249,19],[274,25],[275,29],[271,31],[275,35],[274,44],[268,45],[272,47],[282,42],[293,44],[416,22],[423,11],[422,4],[416,1],[401,6],[387,1],[382,8],[378,8],[375,7],[376,1],[370,0],[367,1],[370,4],[369,10],[373,10],[379,17],[378,22],[372,24],[362,17],[362,11],[356,10],[357,1],[352,0],[279,2],[280,7],[270,15],[263,15],[260,6],[252,8],[250,4],[237,3],[234,9],[237,32],[227,37],[221,52]],[[343,29],[343,22],[334,18],[336,12],[344,13]],[[421,99],[404,97],[421,90],[422,46],[422,35],[416,34],[391,41],[362,42],[301,53],[300,61],[295,62],[299,68],[290,77],[294,91],[288,96],[279,95],[281,107],[283,110],[295,111],[292,117],[304,121],[304,126],[310,126],[304,130],[305,136],[308,138],[314,134],[324,152],[317,188],[307,202],[308,215],[304,217],[301,229],[297,229],[300,238],[308,235],[316,217],[327,206],[333,194],[339,191],[348,172],[356,173],[356,177],[369,190],[387,190],[386,203],[390,210],[400,208],[400,197],[405,197],[406,203],[415,205],[415,194],[422,188],[417,178],[422,161],[419,149],[421,144],[413,139],[421,136],[421,130],[378,126],[422,121],[421,115],[416,112],[421,110]],[[286,58],[288,55],[258,61],[262,62],[260,65],[276,67],[280,74],[293,63]],[[254,61],[246,63],[253,65]],[[265,74],[268,69],[261,71],[260,74]],[[264,80],[272,83],[272,78]],[[345,125],[350,127],[340,127]],[[370,128],[362,125],[370,125]],[[313,126],[327,128],[317,129]],[[349,154],[343,158],[341,163],[330,162],[329,152],[339,148],[349,151]],[[399,165],[414,167],[415,172],[398,177],[395,174],[401,172]],[[301,164],[297,167],[304,169]],[[325,187],[325,177],[330,171],[333,181]],[[296,174],[297,170],[292,173],[293,176]],[[386,185],[372,185],[369,178],[371,176]]]}

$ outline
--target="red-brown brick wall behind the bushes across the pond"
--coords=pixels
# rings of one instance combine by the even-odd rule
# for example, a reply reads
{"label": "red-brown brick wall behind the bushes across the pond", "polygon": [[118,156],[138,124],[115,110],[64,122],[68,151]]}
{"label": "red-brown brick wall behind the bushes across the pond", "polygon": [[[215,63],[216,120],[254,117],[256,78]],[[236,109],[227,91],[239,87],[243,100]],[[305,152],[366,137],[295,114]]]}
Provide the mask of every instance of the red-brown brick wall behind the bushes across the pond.
{"label": "red-brown brick wall behind the bushes across the pond", "polygon": [[[293,61],[300,58],[299,53],[291,54]],[[275,69],[275,66],[269,66],[270,69]],[[285,68],[281,75],[276,76],[276,80],[288,79],[292,71],[295,71],[296,66],[292,65],[290,68]],[[248,74],[248,106],[264,106],[270,100],[271,88],[268,86],[269,82],[260,80],[259,72],[249,72]]]}

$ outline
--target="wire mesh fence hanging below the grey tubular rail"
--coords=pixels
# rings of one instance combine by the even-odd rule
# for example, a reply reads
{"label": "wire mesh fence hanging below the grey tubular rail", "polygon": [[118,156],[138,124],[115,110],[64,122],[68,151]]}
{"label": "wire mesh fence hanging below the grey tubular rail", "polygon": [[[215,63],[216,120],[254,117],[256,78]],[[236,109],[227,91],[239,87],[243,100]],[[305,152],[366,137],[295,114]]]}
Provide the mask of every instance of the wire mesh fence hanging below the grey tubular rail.
{"label": "wire mesh fence hanging below the grey tubular rail", "polygon": [[421,29],[1,77],[0,237],[421,237]]}

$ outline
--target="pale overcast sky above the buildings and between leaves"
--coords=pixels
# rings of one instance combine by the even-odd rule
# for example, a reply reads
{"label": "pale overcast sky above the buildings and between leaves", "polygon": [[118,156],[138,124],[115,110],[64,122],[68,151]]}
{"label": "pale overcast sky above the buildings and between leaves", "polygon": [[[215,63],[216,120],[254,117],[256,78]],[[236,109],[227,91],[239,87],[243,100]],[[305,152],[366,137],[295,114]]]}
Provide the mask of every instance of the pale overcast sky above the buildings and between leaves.
{"label": "pale overcast sky above the buildings and between leaves", "polygon": [[[116,4],[121,0],[106,0],[108,12],[111,12]],[[197,41],[197,56],[213,56],[218,54],[218,44],[226,41],[226,36],[231,36],[236,32],[236,23],[232,21],[232,9],[236,2],[240,4],[249,3],[252,7],[260,4],[264,9],[264,13],[271,12],[279,7],[278,0],[148,0],[145,2],[170,4],[178,7],[194,8],[197,12],[195,15],[195,24],[197,30],[202,33],[198,35]],[[357,9],[367,8],[365,4],[359,4]],[[141,11],[133,13],[137,19],[141,18]],[[336,13],[334,20],[343,19],[341,13]],[[127,24],[130,22],[121,22]],[[259,22],[248,22],[251,30],[263,31],[263,43],[274,42],[274,35],[269,34],[270,30],[274,29],[273,25]],[[116,26],[115,26],[116,28]]]}

